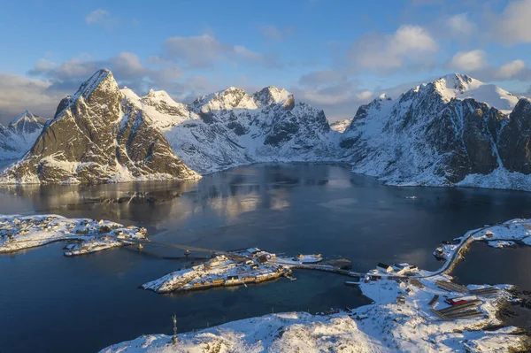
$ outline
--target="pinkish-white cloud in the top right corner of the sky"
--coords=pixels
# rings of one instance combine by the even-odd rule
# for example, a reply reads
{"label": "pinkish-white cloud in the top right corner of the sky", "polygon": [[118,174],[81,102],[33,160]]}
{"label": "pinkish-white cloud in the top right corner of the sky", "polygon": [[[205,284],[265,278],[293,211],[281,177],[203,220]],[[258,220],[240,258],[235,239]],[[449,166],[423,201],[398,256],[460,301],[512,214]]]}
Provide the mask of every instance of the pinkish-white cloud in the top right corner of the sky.
{"label": "pinkish-white cloud in the top right corner of the sky", "polygon": [[493,16],[491,35],[503,43],[531,42],[531,0],[512,1],[499,15]]}

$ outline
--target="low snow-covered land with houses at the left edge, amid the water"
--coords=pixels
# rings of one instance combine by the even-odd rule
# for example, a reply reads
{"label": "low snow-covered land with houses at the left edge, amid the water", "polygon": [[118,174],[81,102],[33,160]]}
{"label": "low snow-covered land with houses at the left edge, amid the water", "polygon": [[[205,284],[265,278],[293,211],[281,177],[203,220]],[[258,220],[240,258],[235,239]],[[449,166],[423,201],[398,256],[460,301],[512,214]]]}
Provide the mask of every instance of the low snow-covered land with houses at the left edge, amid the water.
{"label": "low snow-covered land with houses at the left edge, amid the water", "polygon": [[65,256],[89,254],[146,239],[146,229],[108,220],[66,219],[55,214],[0,215],[0,253],[34,248],[50,242],[66,245]]}

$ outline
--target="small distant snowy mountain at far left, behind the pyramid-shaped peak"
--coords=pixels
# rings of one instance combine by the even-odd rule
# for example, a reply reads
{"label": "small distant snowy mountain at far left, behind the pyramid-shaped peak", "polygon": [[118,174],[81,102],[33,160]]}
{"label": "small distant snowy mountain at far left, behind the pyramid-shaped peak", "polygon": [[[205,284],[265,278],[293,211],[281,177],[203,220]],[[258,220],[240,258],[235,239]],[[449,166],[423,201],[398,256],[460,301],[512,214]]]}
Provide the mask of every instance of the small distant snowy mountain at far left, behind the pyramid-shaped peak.
{"label": "small distant snowy mountain at far left, behind the pyramid-shaped peak", "polygon": [[24,156],[41,134],[47,120],[24,111],[7,127],[0,124],[0,160]]}

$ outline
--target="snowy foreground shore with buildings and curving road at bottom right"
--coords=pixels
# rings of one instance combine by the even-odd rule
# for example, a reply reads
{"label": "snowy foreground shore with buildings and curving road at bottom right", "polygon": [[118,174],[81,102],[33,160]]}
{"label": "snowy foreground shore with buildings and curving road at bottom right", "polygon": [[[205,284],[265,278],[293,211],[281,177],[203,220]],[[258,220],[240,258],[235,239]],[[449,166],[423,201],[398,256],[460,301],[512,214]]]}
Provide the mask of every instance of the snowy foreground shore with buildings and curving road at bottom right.
{"label": "snowy foreground shore with buildings and curving road at bottom right", "polygon": [[101,352],[527,352],[529,337],[498,316],[514,300],[512,286],[460,286],[449,272],[472,242],[531,245],[530,237],[531,219],[513,219],[443,244],[438,271],[379,264],[358,282],[373,303],[354,310],[279,313],[175,337],[148,334]]}

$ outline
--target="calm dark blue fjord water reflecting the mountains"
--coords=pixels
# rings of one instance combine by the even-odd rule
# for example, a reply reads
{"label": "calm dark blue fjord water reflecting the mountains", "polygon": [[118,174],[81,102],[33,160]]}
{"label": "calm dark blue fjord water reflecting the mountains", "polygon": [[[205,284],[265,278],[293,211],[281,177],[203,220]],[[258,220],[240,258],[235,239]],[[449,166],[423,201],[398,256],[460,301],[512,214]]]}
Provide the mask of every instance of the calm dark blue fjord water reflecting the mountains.
{"label": "calm dark blue fjord water reflecting the mountains", "polygon": [[[160,242],[210,249],[319,252],[347,257],[359,271],[379,261],[435,269],[440,263],[431,252],[439,242],[531,217],[529,201],[531,194],[512,191],[390,188],[342,166],[304,164],[253,165],[185,183],[0,189],[0,213],[142,224]],[[140,334],[169,334],[173,313],[182,332],[271,311],[366,303],[357,288],[343,285],[345,277],[302,271],[296,281],[158,295],[138,286],[181,267],[181,250],[147,246],[142,253],[123,248],[66,258],[62,246],[0,256],[0,352],[94,352]],[[498,265],[519,262],[504,257]],[[476,282],[478,271],[465,272]],[[497,281],[512,280],[518,278],[507,271]]]}

